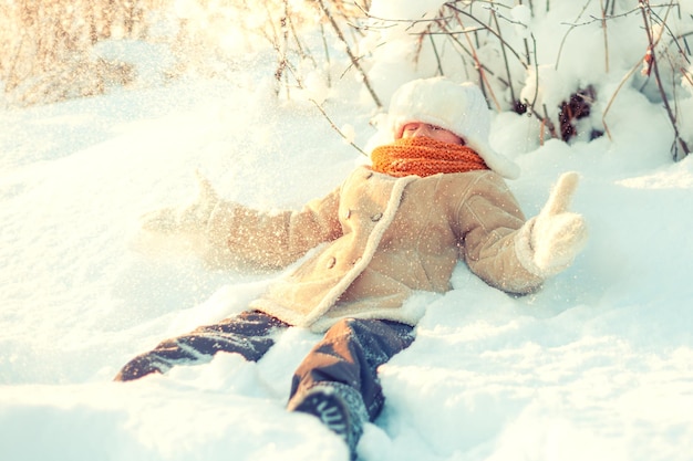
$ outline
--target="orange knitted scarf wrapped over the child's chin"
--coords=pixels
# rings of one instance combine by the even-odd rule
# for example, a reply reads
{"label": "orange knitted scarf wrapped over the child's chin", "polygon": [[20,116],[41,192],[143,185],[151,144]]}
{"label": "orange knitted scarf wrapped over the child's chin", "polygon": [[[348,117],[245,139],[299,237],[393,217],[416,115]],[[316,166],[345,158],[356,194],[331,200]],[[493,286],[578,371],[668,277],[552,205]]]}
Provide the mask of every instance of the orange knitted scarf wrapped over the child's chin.
{"label": "orange knitted scarf wrapped over the child's chin", "polygon": [[395,177],[489,169],[469,147],[427,137],[397,139],[376,147],[371,153],[371,160],[374,171]]}

